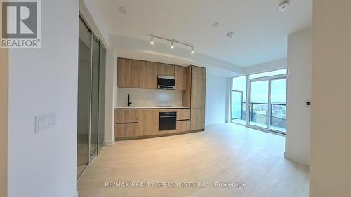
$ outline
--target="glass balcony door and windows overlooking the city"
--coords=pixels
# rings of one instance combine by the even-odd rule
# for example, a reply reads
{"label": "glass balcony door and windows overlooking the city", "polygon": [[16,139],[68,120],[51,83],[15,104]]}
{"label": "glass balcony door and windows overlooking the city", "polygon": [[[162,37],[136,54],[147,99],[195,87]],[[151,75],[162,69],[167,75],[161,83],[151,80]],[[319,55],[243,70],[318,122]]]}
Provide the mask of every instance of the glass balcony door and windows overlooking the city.
{"label": "glass balcony door and windows overlooking the city", "polygon": [[231,98],[232,123],[286,132],[286,69],[233,78]]}

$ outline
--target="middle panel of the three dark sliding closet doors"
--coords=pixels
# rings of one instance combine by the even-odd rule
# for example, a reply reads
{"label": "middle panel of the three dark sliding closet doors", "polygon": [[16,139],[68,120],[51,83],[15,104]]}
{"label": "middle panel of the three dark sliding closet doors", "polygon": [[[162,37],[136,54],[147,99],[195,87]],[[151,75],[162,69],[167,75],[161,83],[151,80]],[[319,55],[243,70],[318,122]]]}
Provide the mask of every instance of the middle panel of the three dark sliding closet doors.
{"label": "middle panel of the three dark sliding closet doors", "polygon": [[98,151],[98,131],[99,131],[99,74],[100,74],[100,48],[99,41],[93,36],[92,69],[91,69],[91,139],[90,156]]}

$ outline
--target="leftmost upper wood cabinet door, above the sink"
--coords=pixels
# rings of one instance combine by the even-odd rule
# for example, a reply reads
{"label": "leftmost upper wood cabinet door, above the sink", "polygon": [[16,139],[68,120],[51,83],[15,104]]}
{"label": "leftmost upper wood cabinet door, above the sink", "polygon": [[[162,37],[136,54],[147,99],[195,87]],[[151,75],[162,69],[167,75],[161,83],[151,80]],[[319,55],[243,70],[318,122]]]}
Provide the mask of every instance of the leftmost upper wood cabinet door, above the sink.
{"label": "leftmost upper wood cabinet door, above the sink", "polygon": [[117,64],[117,86],[122,88],[131,88],[132,86],[132,60],[123,58],[118,59]]}

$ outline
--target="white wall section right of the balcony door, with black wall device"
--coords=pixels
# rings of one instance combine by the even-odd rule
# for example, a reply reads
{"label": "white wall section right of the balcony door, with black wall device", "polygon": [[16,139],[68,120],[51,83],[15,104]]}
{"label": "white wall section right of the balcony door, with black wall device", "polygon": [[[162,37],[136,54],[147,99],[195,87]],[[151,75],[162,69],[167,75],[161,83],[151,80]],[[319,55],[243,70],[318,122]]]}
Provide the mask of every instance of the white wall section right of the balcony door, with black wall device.
{"label": "white wall section right of the balcony door, with black wall device", "polygon": [[289,35],[288,95],[285,156],[310,163],[312,32],[310,28]]}

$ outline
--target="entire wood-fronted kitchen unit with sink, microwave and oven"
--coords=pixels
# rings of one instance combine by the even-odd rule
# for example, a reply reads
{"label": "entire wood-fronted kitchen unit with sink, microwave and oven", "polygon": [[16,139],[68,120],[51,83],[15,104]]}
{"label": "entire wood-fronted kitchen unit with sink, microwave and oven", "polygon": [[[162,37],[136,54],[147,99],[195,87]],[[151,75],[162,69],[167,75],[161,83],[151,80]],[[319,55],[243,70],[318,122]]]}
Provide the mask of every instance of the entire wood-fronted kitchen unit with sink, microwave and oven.
{"label": "entire wood-fronted kitchen unit with sink, microwave and oven", "polygon": [[116,140],[204,131],[206,68],[117,62]]}

